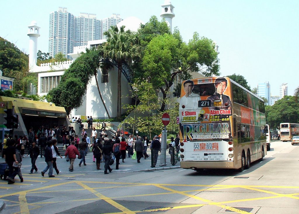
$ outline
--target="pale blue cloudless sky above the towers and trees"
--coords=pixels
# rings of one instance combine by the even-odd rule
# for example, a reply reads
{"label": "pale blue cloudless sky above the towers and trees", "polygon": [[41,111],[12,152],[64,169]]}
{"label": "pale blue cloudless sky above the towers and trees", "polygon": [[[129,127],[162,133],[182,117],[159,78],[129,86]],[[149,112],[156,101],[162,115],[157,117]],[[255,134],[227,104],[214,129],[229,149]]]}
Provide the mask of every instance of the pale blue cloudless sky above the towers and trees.
{"label": "pale blue cloudless sky above the towers and trees", "polygon": [[[29,4],[31,2],[31,4]],[[194,32],[219,45],[220,76],[242,75],[251,88],[269,82],[271,96],[279,95],[279,86],[288,83],[288,95],[299,86],[299,1],[298,0],[172,0],[178,27],[185,42]],[[35,20],[40,27],[38,50],[48,52],[49,14],[58,7],[79,16],[95,13],[97,19],[119,13],[126,19],[135,16],[148,22],[151,16],[161,20],[164,0],[51,0],[1,1],[0,37],[28,54],[28,26]]]}

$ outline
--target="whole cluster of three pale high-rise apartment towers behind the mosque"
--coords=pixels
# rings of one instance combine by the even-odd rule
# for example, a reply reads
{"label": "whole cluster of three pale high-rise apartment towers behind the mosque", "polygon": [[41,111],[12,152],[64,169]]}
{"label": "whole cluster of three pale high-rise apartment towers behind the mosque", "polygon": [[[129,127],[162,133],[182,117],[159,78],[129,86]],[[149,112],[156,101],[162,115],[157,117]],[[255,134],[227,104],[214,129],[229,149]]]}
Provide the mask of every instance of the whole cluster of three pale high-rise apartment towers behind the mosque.
{"label": "whole cluster of three pale high-rise apartment towers behind the mosque", "polygon": [[73,52],[74,46],[87,45],[88,41],[103,39],[103,32],[111,25],[117,25],[123,19],[120,14],[113,13],[110,18],[97,19],[96,14],[80,13],[74,16],[66,7],[50,13],[49,22],[49,54],[55,57],[61,52],[65,57]]}

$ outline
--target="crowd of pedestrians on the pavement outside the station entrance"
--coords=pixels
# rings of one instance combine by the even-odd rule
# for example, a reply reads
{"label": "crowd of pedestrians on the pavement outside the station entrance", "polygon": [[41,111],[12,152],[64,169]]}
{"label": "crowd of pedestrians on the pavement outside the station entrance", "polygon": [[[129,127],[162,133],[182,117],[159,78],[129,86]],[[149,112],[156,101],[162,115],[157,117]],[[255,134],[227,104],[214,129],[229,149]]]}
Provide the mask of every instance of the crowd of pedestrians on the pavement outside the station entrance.
{"label": "crowd of pedestrians on the pavement outside the station entrance", "polygon": [[[74,119],[74,118],[73,118]],[[89,118],[90,127],[92,127],[92,117]],[[89,128],[90,128],[89,127]],[[56,159],[57,157],[62,158],[62,155],[57,149],[57,139],[63,145],[63,150],[65,151],[66,161],[70,162],[69,171],[74,171],[74,161],[78,156],[80,159],[79,167],[82,163],[86,166],[86,154],[88,149],[93,152],[93,162],[96,163],[96,169],[100,170],[100,164],[104,163],[104,174],[109,174],[112,171],[112,164],[115,163],[115,169],[119,169],[120,160],[125,163],[126,157],[131,157],[136,159],[137,163],[141,163],[141,158],[147,159],[149,155],[147,154],[147,148],[153,150],[153,162],[155,167],[158,159],[158,153],[161,151],[161,139],[156,135],[150,141],[147,136],[134,136],[129,135],[128,139],[120,133],[119,129],[116,132],[116,136],[111,139],[108,138],[106,133],[106,123],[103,123],[101,132],[98,136],[97,130],[95,128],[91,131],[91,136],[87,136],[86,131],[83,129],[81,136],[81,142],[76,135],[73,127],[66,128],[65,126],[60,130],[59,127],[54,126],[54,128],[45,128],[41,126],[36,134],[32,128],[29,130],[29,136],[27,138],[26,134],[24,136],[15,136],[15,139],[9,139],[7,135],[4,135],[3,140],[3,152],[2,155],[9,166],[8,184],[14,183],[14,178],[16,175],[19,176],[20,181],[23,182],[23,177],[21,173],[21,162],[24,156],[25,147],[28,147],[28,154],[31,158],[31,170],[29,174],[38,172],[36,167],[36,159],[40,157],[45,157],[45,168],[41,171],[42,176],[48,171],[48,177],[55,177],[53,174],[53,168],[56,174],[60,171],[57,168]],[[171,138],[170,147],[179,147],[179,137],[177,136],[174,140]],[[135,151],[135,152],[134,152]],[[173,155],[173,154],[171,154]],[[109,171],[109,172],[108,172]]]}

